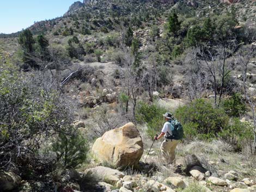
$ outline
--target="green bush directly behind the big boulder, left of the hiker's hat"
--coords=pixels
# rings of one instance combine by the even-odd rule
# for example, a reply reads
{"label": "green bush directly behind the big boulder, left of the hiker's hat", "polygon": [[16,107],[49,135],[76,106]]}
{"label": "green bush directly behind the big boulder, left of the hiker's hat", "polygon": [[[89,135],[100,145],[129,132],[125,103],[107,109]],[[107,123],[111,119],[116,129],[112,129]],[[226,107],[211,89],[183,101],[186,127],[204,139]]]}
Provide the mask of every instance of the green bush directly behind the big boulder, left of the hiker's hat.
{"label": "green bush directly behind the big boulder, left of the hiker's hat", "polygon": [[147,134],[149,137],[154,136],[161,131],[164,123],[163,114],[166,109],[157,106],[156,104],[148,104],[139,102],[136,113],[136,120],[141,123],[147,123]]}

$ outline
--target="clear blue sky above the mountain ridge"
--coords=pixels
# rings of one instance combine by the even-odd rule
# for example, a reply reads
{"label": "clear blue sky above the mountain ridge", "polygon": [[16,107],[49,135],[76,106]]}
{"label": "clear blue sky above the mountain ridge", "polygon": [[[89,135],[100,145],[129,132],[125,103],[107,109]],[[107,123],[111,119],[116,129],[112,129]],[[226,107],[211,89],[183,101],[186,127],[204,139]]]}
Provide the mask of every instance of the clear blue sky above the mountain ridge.
{"label": "clear blue sky above the mountain ridge", "polygon": [[76,1],[0,0],[0,33],[18,32],[31,26],[34,21],[62,16]]}

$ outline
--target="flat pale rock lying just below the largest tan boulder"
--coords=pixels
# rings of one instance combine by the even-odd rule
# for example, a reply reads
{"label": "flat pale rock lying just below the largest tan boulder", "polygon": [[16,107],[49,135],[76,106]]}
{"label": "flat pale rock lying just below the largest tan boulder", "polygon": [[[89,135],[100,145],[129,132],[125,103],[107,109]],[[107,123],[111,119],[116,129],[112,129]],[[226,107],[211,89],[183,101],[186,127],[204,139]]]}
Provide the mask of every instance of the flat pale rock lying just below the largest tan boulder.
{"label": "flat pale rock lying just below the largest tan boulder", "polygon": [[87,169],[84,173],[98,179],[98,181],[104,181],[113,185],[116,185],[120,178],[124,177],[123,172],[111,168],[105,168],[104,166]]}

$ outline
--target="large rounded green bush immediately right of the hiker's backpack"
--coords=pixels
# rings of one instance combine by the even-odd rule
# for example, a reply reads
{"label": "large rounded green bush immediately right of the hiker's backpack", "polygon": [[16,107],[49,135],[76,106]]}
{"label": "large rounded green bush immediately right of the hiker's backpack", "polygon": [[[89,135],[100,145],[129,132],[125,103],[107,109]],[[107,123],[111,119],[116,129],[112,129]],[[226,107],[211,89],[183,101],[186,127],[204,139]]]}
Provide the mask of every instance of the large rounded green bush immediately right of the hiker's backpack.
{"label": "large rounded green bush immediately right of the hiker's backpack", "polygon": [[215,138],[223,129],[228,128],[229,123],[229,117],[223,109],[214,108],[203,99],[179,107],[175,115],[182,123],[187,138]]}

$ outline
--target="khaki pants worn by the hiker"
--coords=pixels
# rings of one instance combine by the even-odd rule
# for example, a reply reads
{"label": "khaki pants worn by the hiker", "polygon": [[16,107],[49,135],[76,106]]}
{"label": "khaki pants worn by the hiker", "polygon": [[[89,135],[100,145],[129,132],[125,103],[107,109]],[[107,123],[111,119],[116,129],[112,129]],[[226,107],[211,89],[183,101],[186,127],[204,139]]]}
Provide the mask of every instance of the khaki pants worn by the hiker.
{"label": "khaki pants worn by the hiker", "polygon": [[167,164],[175,164],[175,148],[179,140],[164,139],[160,149]]}

